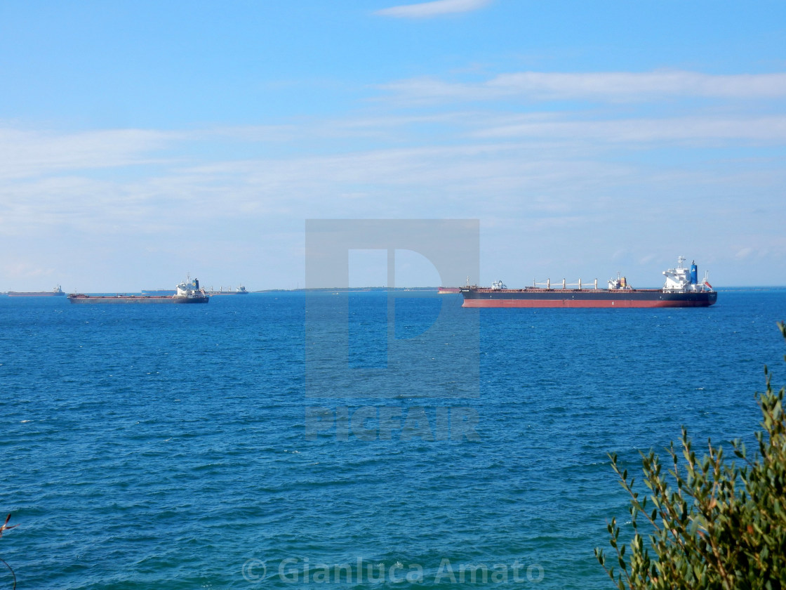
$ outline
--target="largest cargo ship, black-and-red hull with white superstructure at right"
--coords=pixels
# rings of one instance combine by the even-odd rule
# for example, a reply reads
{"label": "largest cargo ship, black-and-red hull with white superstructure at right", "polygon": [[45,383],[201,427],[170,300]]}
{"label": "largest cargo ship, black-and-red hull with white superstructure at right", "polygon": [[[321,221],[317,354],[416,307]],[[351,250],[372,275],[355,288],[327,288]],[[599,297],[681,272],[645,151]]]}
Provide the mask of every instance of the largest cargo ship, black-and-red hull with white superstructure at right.
{"label": "largest cargo ship, black-and-red hull with white superstructure at right", "polygon": [[[680,256],[676,268],[663,271],[666,283],[661,289],[634,289],[625,277],[612,278],[608,289],[593,284],[568,289],[564,280],[554,288],[551,281],[545,288],[534,285],[526,289],[508,289],[501,281],[490,288],[461,287],[465,308],[706,308],[718,301],[718,293],[707,282],[707,275],[698,281],[696,263],[685,268]],[[572,287],[573,285],[571,285]]]}

